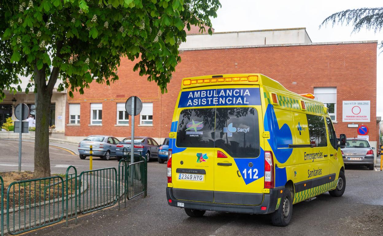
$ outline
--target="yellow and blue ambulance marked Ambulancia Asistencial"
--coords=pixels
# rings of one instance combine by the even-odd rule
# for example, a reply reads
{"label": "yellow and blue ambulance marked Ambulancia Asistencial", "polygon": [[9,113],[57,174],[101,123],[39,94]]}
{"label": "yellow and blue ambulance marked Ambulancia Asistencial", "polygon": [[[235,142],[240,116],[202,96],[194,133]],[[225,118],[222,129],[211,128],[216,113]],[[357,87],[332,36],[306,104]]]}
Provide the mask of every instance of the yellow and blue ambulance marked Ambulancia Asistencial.
{"label": "yellow and blue ambulance marked Ambulancia Asistencial", "polygon": [[346,180],[327,107],[262,74],[182,80],[169,133],[167,201],[205,211],[272,214],[286,226],[293,204]]}

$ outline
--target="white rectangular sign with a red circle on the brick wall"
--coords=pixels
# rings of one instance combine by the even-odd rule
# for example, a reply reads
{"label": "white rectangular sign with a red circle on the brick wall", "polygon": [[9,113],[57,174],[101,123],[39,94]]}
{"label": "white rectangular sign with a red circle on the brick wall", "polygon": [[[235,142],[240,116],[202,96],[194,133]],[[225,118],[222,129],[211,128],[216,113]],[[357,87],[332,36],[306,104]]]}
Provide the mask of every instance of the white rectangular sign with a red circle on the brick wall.
{"label": "white rectangular sign with a red circle on the brick wall", "polygon": [[343,122],[370,122],[370,101],[343,101]]}

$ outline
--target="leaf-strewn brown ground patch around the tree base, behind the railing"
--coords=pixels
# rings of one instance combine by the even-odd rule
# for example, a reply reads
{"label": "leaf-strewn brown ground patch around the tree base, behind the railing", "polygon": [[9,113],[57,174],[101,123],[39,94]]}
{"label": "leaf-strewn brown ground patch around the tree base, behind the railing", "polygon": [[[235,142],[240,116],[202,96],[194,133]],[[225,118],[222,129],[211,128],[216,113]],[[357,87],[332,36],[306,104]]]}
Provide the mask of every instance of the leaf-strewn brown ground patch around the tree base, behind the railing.
{"label": "leaf-strewn brown ground patch around the tree base, behind the railing", "polygon": [[[7,190],[8,187],[16,181],[25,181],[33,179],[33,172],[31,171],[10,171],[0,173],[4,181],[4,207],[7,204]],[[59,177],[61,176],[64,182],[61,182]],[[44,202],[50,200],[53,203],[53,199],[57,202],[57,199],[62,197],[62,187],[64,185],[64,197],[66,194],[66,182],[65,174],[53,174],[50,179],[33,180],[28,182],[13,184],[9,189],[9,208],[18,208],[23,206],[29,206],[33,203]],[[75,192],[75,179],[68,181],[68,194],[72,195]]]}

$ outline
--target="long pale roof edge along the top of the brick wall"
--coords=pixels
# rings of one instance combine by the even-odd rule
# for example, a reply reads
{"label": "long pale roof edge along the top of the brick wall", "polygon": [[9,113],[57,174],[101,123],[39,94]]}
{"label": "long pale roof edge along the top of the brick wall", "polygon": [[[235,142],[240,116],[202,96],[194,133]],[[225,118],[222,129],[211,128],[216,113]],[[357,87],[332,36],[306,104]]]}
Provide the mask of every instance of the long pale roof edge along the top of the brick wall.
{"label": "long pale roof edge along the top of the brick wall", "polygon": [[377,40],[370,41],[345,41],[345,42],[312,42],[312,43],[301,43],[301,44],[260,44],[260,45],[245,45],[245,46],[224,46],[224,47],[196,47],[196,48],[185,48],[178,49],[180,51],[191,51],[191,50],[209,50],[209,49],[232,49],[232,48],[249,48],[249,47],[289,47],[289,46],[311,46],[311,45],[329,45],[329,44],[364,44],[364,43],[378,43]]}

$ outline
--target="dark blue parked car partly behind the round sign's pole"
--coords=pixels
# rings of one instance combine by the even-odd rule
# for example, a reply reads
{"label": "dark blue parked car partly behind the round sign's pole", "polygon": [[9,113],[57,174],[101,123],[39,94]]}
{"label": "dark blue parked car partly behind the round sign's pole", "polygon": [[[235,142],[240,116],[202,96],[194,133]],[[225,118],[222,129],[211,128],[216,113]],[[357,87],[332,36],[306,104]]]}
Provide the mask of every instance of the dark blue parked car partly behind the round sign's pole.
{"label": "dark blue parked car partly behind the round sign's pole", "polygon": [[[123,149],[126,148],[130,152],[131,137],[124,138],[116,146],[117,160],[123,158]],[[159,145],[153,138],[149,137],[134,137],[134,153],[138,153],[146,158],[149,162],[151,158],[158,158]]]}

